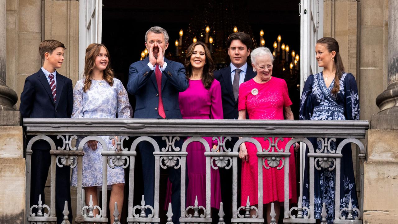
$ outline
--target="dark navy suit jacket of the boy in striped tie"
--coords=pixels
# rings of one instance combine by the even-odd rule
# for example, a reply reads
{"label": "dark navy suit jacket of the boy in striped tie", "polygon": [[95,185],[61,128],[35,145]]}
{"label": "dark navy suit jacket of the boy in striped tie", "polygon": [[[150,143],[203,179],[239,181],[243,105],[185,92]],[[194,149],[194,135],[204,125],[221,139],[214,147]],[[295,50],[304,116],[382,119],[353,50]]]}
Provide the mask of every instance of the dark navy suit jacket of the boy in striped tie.
{"label": "dark navy suit jacket of the boy in striped tie", "polygon": [[[50,84],[43,71],[25,79],[20,112],[23,118],[70,118],[73,107],[72,80],[57,73],[57,95],[54,103]],[[28,139],[29,140],[29,139]],[[57,140],[53,138],[57,143]],[[37,143],[34,149],[49,149],[48,143]]]}

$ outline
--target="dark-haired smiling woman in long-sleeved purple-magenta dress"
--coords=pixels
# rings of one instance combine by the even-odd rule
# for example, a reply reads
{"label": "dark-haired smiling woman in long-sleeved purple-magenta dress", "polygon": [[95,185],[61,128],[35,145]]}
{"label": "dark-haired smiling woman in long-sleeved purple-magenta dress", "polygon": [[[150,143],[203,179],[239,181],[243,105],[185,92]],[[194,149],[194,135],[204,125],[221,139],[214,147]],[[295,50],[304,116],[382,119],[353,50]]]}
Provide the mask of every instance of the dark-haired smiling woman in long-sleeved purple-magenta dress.
{"label": "dark-haired smiling woman in long-sleeved purple-magenta dress", "polygon": [[[204,43],[193,43],[187,49],[185,69],[189,87],[179,93],[179,107],[183,119],[222,119],[221,86],[213,77],[214,63]],[[211,137],[204,137],[213,147]],[[186,206],[206,206],[206,157],[205,147],[192,142],[187,147],[188,186]],[[219,171],[211,168],[211,207],[219,209],[221,202]]]}

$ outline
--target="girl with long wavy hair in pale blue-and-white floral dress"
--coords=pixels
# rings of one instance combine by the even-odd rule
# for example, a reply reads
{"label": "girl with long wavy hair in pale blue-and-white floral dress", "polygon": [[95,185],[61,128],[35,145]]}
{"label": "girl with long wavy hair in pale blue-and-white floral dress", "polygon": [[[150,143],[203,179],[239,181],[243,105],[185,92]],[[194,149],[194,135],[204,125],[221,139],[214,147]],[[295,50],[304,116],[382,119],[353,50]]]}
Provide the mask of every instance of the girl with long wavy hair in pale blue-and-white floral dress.
{"label": "girl with long wavy hair in pale blue-and-white floral dress", "polygon": [[[109,52],[99,43],[92,43],[86,49],[84,78],[77,81],[73,90],[72,118],[131,118],[132,108],[127,91],[119,79],[113,78],[109,66]],[[100,136],[107,144],[107,150],[113,150],[115,142],[109,136]],[[78,138],[76,145],[80,143]],[[94,205],[98,205],[97,188],[102,186],[102,145],[97,141],[88,141],[83,147],[82,186],[89,204],[90,195]],[[107,185],[111,187],[109,200],[110,214],[113,214],[115,202],[119,214],[123,206],[124,169],[107,169]],[[77,185],[77,167],[72,170],[72,186]],[[103,199],[106,200],[106,199]],[[95,209],[94,215],[98,214]],[[94,216],[96,217],[96,216]],[[114,217],[110,215],[111,223]],[[120,216],[119,216],[120,219]]]}

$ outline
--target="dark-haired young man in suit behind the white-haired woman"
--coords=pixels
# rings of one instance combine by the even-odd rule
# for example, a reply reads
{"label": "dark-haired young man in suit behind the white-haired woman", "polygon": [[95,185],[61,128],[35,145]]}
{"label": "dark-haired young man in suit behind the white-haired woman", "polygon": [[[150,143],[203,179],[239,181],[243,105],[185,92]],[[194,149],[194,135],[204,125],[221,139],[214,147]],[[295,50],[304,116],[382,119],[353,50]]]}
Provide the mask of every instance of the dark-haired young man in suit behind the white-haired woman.
{"label": "dark-haired young man in suit behind the white-haired woman", "polygon": [[[239,85],[256,76],[253,68],[246,62],[250,55],[252,39],[250,35],[243,32],[232,33],[226,41],[226,46],[228,47],[228,55],[231,63],[228,67],[215,71],[214,77],[221,84],[224,119],[238,119]],[[237,138],[232,138],[232,141],[227,141],[226,147],[232,149],[237,140]],[[238,161],[238,167],[240,167],[240,161]],[[232,211],[232,169],[220,169],[220,179],[221,189],[223,189],[221,191],[221,198],[224,204],[224,220],[226,223],[230,223]]]}

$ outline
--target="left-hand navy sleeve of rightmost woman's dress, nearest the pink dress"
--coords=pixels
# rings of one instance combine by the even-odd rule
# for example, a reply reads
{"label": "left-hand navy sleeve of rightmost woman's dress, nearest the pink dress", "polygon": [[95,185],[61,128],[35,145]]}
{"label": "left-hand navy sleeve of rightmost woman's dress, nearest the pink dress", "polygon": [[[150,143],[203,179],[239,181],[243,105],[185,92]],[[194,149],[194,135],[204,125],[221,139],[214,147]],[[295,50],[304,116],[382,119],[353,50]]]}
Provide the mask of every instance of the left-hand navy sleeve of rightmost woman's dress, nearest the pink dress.
{"label": "left-hand navy sleeve of rightmost woman's dress, nearest the pink dress", "polygon": [[312,103],[311,103],[311,93],[312,85],[314,84],[314,75],[310,75],[304,84],[302,89],[301,99],[300,99],[300,115],[299,120],[311,120],[312,116]]}

